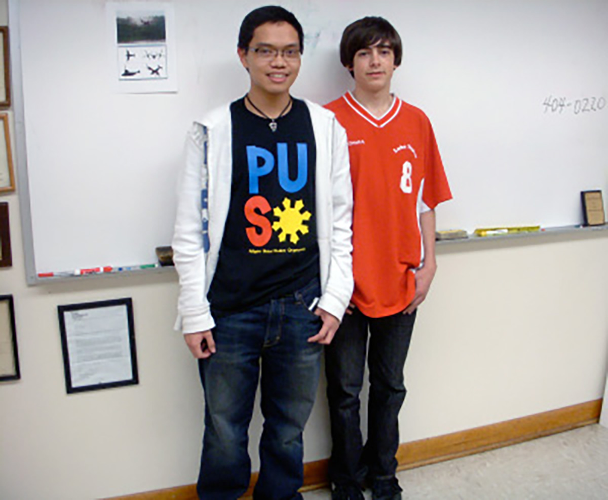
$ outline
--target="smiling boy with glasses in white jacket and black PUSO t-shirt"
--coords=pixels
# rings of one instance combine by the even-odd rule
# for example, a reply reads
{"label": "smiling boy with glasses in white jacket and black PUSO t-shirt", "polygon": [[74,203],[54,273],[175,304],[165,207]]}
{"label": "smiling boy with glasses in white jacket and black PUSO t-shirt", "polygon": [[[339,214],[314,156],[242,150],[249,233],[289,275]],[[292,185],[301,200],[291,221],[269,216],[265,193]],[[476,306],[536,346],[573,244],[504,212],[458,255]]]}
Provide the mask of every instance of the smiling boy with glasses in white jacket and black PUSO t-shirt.
{"label": "smiling boy with glasses in white jacket and black PUSO t-shirt", "polygon": [[249,91],[195,122],[187,142],[173,251],[178,326],[205,394],[201,500],[236,500],[249,486],[258,384],[254,499],[302,498],[322,348],[353,291],[346,133],[289,94],[303,38],[282,7],[250,12],[238,37]]}

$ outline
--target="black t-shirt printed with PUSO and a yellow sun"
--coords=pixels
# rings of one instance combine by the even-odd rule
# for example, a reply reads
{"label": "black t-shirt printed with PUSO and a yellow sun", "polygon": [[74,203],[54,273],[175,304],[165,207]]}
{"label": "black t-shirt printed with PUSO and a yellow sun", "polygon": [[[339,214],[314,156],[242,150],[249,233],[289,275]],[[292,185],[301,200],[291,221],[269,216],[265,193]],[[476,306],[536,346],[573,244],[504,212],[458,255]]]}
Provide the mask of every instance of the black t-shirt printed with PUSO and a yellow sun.
{"label": "black t-shirt printed with PUSO and a yellow sun", "polygon": [[286,296],[319,276],[308,106],[294,99],[274,132],[244,99],[233,102],[230,113],[230,208],[209,290],[212,309],[227,313]]}

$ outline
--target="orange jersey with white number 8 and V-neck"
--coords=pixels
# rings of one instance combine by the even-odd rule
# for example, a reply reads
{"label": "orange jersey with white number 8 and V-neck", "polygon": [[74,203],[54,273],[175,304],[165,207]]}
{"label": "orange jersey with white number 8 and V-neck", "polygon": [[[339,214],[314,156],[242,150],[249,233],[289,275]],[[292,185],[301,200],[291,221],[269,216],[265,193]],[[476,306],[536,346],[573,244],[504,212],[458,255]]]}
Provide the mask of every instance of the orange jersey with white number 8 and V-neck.
{"label": "orange jersey with white number 8 and V-neck", "polygon": [[452,198],[426,114],[394,97],[381,118],[350,92],[326,108],[348,135],[353,179],[353,303],[371,318],[404,310],[423,248],[419,216]]}

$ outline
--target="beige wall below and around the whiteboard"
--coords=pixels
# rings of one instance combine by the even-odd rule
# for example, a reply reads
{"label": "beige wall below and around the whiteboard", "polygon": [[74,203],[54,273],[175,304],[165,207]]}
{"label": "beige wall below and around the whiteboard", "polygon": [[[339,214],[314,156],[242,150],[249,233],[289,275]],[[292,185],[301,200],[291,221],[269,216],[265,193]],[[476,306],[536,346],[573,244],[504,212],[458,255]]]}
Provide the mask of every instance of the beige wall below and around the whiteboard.
{"label": "beige wall below and around the whiteboard", "polygon": [[[5,0],[0,15],[6,24]],[[0,293],[15,297],[22,375],[0,384],[0,498],[82,500],[194,482],[201,390],[171,330],[174,273],[28,287],[18,195],[0,201],[10,204],[13,243]],[[406,366],[402,442],[602,397],[607,236],[440,247]],[[57,305],[126,296],[134,303],[139,385],[67,395]],[[254,468],[260,428],[257,412]],[[306,461],[328,456],[322,387],[305,443]]]}

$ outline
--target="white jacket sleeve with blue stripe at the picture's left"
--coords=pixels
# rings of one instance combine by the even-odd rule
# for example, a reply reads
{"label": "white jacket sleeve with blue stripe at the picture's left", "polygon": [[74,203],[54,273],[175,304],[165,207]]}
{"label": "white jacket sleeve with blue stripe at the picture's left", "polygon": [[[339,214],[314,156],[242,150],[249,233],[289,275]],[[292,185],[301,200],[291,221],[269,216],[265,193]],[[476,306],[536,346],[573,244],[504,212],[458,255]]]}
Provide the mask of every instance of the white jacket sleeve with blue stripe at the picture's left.
{"label": "white jacket sleeve with blue stripe at the picture's left", "polygon": [[185,167],[178,183],[173,231],[173,262],[179,275],[176,330],[204,332],[215,327],[209,310],[205,277],[207,238],[207,134],[200,123],[188,133]]}

